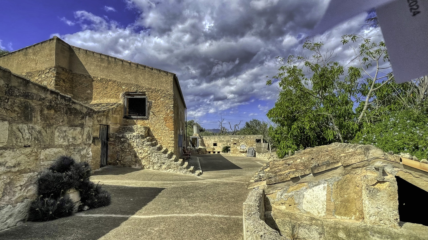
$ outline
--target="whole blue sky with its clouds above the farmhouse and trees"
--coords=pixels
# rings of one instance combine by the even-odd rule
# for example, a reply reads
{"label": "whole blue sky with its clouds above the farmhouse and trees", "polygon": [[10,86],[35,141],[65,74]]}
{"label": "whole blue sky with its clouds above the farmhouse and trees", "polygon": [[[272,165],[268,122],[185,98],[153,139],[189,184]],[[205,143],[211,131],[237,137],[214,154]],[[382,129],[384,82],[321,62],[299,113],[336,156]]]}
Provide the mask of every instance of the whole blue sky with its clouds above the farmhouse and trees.
{"label": "whole blue sky with its clouds above the farmhouse and trees", "polygon": [[[328,0],[15,0],[3,1],[0,47],[18,50],[57,35],[71,45],[177,73],[187,119],[207,129],[220,117],[232,125],[267,120],[277,85],[277,56],[305,54]],[[336,61],[350,64],[354,51],[344,34],[380,35],[366,14],[321,35]],[[381,38],[381,37],[379,37]],[[353,64],[353,63],[351,63]]]}

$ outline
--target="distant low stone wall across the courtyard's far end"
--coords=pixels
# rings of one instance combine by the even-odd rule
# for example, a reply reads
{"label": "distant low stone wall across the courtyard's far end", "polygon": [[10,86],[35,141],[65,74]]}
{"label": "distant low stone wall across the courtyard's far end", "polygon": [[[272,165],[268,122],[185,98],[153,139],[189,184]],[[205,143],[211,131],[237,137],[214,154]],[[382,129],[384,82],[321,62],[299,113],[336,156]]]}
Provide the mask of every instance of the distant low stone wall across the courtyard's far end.
{"label": "distant low stone wall across the courtyard's far end", "polygon": [[[263,139],[263,135],[222,135],[222,136],[203,136],[205,147],[208,152],[220,151],[223,146],[230,146],[230,155],[246,156],[249,147],[256,147],[256,139]],[[213,143],[217,143],[214,146]],[[245,145],[241,149],[241,145]]]}

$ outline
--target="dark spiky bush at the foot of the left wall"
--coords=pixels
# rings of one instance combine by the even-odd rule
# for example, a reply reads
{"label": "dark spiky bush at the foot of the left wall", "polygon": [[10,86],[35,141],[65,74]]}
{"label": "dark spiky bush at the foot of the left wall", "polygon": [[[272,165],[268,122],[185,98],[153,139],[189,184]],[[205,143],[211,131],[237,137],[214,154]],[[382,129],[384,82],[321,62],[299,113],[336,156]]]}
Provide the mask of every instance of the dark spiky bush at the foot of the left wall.
{"label": "dark spiky bush at the foot of the left wall", "polygon": [[76,162],[68,156],[59,157],[39,177],[39,198],[31,204],[30,220],[47,221],[73,214],[74,203],[65,196],[70,188],[79,190],[79,210],[109,205],[110,193],[89,181],[90,176],[89,163]]}

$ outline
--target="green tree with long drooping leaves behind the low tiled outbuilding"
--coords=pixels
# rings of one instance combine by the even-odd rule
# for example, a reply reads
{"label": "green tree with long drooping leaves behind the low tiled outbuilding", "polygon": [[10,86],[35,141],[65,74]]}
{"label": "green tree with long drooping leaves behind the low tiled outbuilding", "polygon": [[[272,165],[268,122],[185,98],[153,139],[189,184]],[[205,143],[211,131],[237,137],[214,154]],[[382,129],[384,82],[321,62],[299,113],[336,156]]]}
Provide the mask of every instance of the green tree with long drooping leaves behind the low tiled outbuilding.
{"label": "green tree with long drooping leaves behind the low tiled outbuilding", "polygon": [[352,97],[357,98],[357,67],[331,61],[333,53],[321,52],[323,44],[307,40],[303,49],[312,56],[279,59],[279,73],[267,84],[278,81],[282,90],[267,116],[276,124],[270,136],[277,142],[277,154],[318,146],[333,141],[347,142],[359,130]]}

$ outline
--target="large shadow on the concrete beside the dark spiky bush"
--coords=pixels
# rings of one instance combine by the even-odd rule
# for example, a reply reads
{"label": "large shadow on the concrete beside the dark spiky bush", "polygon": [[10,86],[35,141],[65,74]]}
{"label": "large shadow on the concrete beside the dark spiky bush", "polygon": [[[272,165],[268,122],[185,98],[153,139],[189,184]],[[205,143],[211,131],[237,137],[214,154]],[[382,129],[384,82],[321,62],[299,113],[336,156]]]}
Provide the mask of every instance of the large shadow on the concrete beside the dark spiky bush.
{"label": "large shadow on the concrete beside the dark spiky bush", "polygon": [[[48,222],[25,222],[0,231],[7,240],[96,240],[128,220],[165,188],[104,185],[111,204]],[[104,216],[102,216],[102,215]],[[100,216],[101,215],[101,216]]]}

